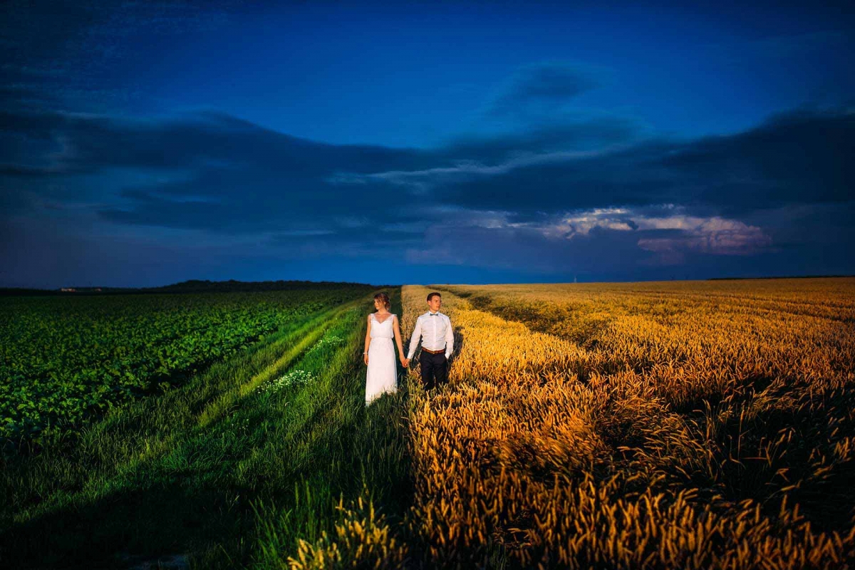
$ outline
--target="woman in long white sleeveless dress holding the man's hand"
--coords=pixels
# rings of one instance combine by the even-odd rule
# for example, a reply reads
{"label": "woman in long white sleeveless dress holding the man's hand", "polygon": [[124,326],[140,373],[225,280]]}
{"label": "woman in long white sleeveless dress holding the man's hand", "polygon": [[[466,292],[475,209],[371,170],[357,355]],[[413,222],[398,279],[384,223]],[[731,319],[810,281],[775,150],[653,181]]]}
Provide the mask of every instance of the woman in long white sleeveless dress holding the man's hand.
{"label": "woman in long white sleeveless dress holding the man's hand", "polygon": [[401,346],[401,328],[398,325],[398,315],[389,312],[389,296],[386,293],[374,295],[376,313],[368,316],[369,328],[365,332],[365,352],[363,359],[368,365],[365,378],[365,405],[372,403],[382,394],[394,393],[397,390],[398,367],[395,365],[395,347],[392,337],[398,344],[398,355],[401,364],[406,367],[404,348]]}

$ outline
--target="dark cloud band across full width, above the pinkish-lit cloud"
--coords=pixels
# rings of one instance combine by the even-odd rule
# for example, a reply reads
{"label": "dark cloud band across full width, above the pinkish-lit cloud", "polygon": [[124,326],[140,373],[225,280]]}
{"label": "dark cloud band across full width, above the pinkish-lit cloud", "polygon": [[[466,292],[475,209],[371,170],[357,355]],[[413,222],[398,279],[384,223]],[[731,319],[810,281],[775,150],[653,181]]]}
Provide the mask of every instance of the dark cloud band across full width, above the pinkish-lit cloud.
{"label": "dark cloud band across full width, above the pinkish-lit cloud", "polygon": [[[229,233],[283,223],[322,226],[341,216],[369,220],[375,200],[403,214],[402,201],[416,206],[428,198],[516,220],[661,203],[739,216],[787,204],[845,202],[855,184],[849,160],[855,115],[847,110],[797,110],[737,135],[687,142],[620,144],[632,137],[632,127],[610,121],[577,132],[565,126],[516,138],[469,138],[435,150],[319,144],[216,113],[160,122],[3,113],[0,127],[7,193],[15,193],[9,182],[15,179],[32,184],[40,177],[121,168],[184,172],[177,181],[120,183],[115,207],[100,214],[121,223]],[[563,140],[572,148],[592,137],[604,150],[561,150]],[[31,148],[21,141],[32,149],[44,144],[41,163],[15,163],[23,158],[15,149]]]}

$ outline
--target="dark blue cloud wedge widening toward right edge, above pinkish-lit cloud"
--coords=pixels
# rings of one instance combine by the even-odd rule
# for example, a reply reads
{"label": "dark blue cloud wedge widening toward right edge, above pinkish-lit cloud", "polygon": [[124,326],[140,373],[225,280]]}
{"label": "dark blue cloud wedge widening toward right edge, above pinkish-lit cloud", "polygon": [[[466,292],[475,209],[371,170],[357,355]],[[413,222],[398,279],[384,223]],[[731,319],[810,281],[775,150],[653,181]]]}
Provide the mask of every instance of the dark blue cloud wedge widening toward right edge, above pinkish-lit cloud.
{"label": "dark blue cloud wedge widening toward right edge, above pinkish-lit cloud", "polygon": [[518,214],[679,203],[699,213],[738,216],[852,200],[853,155],[851,109],[800,109],[728,137],[648,140],[619,150],[553,152],[500,167],[465,164],[387,178],[417,185],[445,203]]}

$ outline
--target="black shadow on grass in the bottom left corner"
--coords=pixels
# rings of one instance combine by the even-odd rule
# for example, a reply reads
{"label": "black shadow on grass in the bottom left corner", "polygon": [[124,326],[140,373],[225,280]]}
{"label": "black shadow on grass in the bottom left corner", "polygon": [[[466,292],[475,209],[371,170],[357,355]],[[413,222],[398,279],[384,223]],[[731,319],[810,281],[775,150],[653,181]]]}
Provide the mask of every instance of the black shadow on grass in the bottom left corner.
{"label": "black shadow on grass in the bottom left corner", "polygon": [[251,532],[251,491],[180,479],[118,491],[96,502],[41,515],[3,534],[3,567],[117,568],[127,558],[186,554]]}

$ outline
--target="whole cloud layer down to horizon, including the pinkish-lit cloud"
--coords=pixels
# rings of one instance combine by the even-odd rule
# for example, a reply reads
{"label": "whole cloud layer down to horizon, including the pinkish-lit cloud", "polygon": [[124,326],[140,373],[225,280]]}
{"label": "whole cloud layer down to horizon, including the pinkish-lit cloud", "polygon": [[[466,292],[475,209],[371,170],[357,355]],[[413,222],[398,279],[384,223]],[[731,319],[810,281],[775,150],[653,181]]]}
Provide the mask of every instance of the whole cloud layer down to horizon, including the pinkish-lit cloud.
{"label": "whole cloud layer down to horizon, including the pinkish-lit cloud", "polygon": [[[796,109],[688,141],[592,120],[578,132],[390,149],[321,144],[212,111],[144,121],[27,110],[0,114],[0,199],[15,227],[165,232],[163,247],[185,232],[224,256],[733,273],[722,260],[776,267],[784,250],[809,255],[811,239],[852,245],[842,229],[852,120],[848,109]],[[245,244],[240,254],[234,244]]]}

